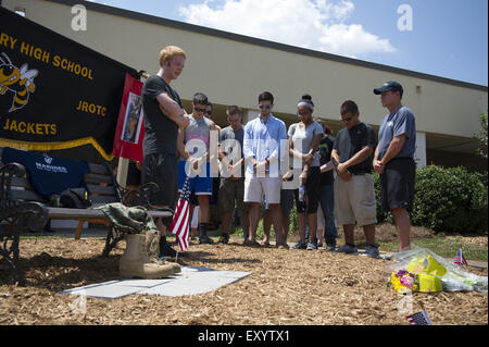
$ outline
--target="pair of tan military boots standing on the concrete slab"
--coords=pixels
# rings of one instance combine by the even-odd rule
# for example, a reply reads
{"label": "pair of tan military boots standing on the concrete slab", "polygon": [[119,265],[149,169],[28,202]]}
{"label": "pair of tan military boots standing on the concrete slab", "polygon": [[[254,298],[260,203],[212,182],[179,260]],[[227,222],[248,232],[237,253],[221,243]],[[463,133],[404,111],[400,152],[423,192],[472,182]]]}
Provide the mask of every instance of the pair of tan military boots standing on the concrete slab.
{"label": "pair of tan military boots standing on the concrete slab", "polygon": [[164,278],[181,272],[180,265],[164,260],[151,261],[149,248],[154,234],[126,234],[126,250],[118,262],[121,276],[126,278]]}

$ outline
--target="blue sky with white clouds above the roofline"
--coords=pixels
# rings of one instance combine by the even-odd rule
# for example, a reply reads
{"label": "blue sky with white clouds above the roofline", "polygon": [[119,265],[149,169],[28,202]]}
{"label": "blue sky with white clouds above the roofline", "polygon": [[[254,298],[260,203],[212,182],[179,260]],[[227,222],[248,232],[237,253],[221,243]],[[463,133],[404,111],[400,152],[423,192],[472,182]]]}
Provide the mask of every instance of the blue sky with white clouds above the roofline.
{"label": "blue sky with white clouds above the roofline", "polygon": [[488,85],[487,0],[91,0]]}

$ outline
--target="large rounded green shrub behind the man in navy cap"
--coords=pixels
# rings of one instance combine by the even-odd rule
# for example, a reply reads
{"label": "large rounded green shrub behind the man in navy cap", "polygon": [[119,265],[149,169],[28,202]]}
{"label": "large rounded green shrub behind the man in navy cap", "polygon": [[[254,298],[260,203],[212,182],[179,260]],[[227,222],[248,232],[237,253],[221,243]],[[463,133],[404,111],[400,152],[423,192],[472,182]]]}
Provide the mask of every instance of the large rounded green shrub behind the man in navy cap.
{"label": "large rounded green shrub behind the man in navy cap", "polygon": [[487,186],[465,168],[429,165],[417,170],[413,225],[435,232],[487,232]]}

